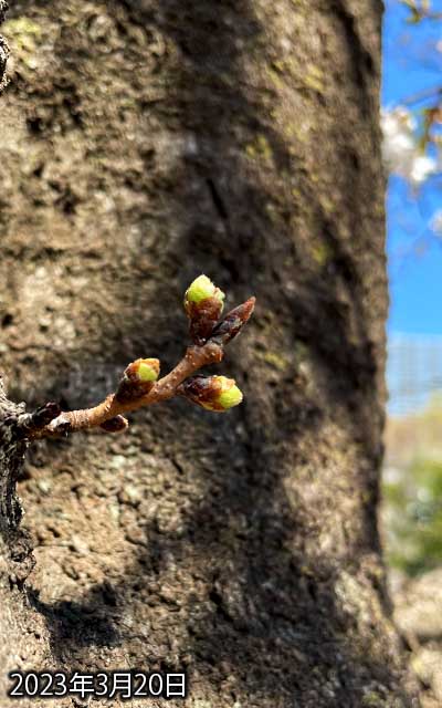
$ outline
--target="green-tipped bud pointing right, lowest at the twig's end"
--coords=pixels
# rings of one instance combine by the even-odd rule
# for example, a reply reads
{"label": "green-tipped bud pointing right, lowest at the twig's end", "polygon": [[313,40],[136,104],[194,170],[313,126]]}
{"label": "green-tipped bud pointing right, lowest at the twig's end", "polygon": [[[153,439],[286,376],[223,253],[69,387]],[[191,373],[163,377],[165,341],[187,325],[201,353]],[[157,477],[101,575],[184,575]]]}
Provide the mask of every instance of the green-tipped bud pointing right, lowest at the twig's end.
{"label": "green-tipped bud pointing right, lowest at the twig's end", "polygon": [[185,381],[179,393],[192,403],[223,413],[242,402],[242,393],[233,378],[225,376],[192,376]]}

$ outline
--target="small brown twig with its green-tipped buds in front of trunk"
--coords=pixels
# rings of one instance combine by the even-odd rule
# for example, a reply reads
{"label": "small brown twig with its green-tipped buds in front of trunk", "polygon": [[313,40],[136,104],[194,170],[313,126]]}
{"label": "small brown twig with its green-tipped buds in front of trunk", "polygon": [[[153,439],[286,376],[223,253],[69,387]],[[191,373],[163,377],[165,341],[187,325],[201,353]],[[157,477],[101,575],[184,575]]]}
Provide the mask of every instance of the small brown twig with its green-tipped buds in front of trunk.
{"label": "small brown twig with its green-tipped buds in front of trunk", "polygon": [[[196,397],[194,391],[186,396],[181,386],[203,366],[221,362],[224,356],[224,346],[249,321],[255,303],[255,299],[250,298],[218,322],[222,300],[223,293],[206,275],[197,278],[188,289],[185,300],[190,320],[190,333],[197,344],[187,348],[182,360],[169,374],[155,381],[159,373],[158,360],[137,360],[125,369],[116,392],[93,408],[61,413],[56,404],[46,404],[33,414],[19,416],[18,424],[23,435],[32,440],[59,437],[95,427],[102,427],[108,433],[117,433],[126,429],[128,425],[123,414],[151,406],[176,395],[185,395],[192,403],[211,410],[225,410],[240,403],[242,394],[234,381],[223,376],[208,377],[204,394],[200,398]],[[204,330],[202,325],[206,326],[204,340],[201,339],[201,332]],[[238,395],[232,395],[232,387],[238,391]],[[215,402],[214,407],[213,402]]]}

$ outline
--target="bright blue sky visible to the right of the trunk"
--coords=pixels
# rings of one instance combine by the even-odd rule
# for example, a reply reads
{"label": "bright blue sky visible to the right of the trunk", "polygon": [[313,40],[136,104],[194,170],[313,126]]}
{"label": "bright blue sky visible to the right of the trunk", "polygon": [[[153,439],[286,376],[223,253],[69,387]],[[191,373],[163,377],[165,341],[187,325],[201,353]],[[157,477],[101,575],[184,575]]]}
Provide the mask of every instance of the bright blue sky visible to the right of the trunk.
{"label": "bright blue sky visible to the right of the trunk", "polygon": [[[432,2],[442,10],[442,0]],[[391,106],[427,87],[442,86],[442,21],[406,23],[409,12],[397,0],[386,2],[382,104]],[[424,105],[419,104],[419,105]],[[399,177],[387,194],[387,250],[390,277],[388,333],[442,334],[442,238],[428,227],[442,208],[442,177],[418,196]]]}

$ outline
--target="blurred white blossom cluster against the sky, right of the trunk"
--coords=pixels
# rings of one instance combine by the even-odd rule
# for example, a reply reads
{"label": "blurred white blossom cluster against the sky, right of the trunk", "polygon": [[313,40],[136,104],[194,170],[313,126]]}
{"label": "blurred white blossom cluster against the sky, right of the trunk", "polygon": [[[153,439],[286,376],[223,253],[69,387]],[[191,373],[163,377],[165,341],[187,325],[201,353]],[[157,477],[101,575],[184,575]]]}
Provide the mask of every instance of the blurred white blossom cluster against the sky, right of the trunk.
{"label": "blurred white blossom cluster against the sky, right of the trunk", "polygon": [[422,155],[414,131],[415,119],[404,106],[381,112],[382,155],[387,168],[412,185],[422,184],[438,169],[436,162]]}

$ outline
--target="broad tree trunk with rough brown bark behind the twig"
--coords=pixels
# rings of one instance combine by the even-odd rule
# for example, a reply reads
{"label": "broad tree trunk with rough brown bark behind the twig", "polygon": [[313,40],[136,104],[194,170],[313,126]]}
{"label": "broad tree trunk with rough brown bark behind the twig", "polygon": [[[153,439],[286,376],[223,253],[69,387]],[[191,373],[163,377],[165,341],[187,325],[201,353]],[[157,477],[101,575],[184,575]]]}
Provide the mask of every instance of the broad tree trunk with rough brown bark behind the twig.
{"label": "broad tree trunk with rough brown bark behind the twig", "polygon": [[[257,310],[223,364],[242,407],[177,400],[118,438],[32,446],[19,491],[33,569],[1,507],[7,669],[185,667],[199,708],[417,705],[376,523],[380,20],[377,0],[23,0],[9,14],[10,398],[74,408],[138,356],[166,371],[200,272]],[[2,397],[9,480],[15,413]]]}

